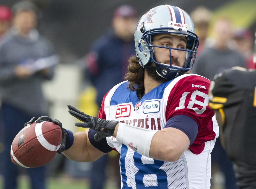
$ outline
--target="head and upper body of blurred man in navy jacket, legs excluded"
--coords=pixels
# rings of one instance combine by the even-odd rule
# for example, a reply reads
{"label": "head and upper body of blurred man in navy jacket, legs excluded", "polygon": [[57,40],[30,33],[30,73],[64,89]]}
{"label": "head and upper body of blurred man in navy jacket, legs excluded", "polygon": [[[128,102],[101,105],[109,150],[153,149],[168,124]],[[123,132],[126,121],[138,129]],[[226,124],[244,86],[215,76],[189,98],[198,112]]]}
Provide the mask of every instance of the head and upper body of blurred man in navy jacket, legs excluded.
{"label": "head and upper body of blurred man in navy jacket, legs excluded", "polygon": [[127,58],[135,54],[133,33],[136,24],[137,12],[133,7],[118,7],[113,14],[112,28],[96,40],[87,55],[89,77],[98,89],[96,101],[99,106],[111,86],[124,80]]}

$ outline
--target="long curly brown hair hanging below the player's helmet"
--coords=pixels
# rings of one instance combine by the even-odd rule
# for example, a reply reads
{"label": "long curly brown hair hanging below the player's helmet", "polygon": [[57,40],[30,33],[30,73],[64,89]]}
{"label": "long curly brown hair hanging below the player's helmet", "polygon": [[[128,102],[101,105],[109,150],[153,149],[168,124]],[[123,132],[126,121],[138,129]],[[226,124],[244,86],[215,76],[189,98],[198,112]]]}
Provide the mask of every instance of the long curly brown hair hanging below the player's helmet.
{"label": "long curly brown hair hanging below the player's helmet", "polygon": [[125,79],[130,81],[127,88],[131,91],[144,90],[144,69],[140,64],[136,56],[132,56],[128,59],[128,72]]}

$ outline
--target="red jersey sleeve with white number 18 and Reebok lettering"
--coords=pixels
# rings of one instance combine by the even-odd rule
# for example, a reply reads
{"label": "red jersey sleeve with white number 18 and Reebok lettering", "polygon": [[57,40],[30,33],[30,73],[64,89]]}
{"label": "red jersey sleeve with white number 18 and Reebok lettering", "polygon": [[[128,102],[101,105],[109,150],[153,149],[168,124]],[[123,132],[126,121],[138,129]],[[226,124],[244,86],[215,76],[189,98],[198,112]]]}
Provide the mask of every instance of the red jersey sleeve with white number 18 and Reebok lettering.
{"label": "red jersey sleeve with white number 18 and Reebok lettering", "polygon": [[200,154],[206,141],[215,138],[213,131],[213,110],[208,106],[210,81],[204,77],[191,75],[180,79],[171,89],[166,104],[166,121],[176,115],[193,118],[198,125],[198,134],[189,149]]}

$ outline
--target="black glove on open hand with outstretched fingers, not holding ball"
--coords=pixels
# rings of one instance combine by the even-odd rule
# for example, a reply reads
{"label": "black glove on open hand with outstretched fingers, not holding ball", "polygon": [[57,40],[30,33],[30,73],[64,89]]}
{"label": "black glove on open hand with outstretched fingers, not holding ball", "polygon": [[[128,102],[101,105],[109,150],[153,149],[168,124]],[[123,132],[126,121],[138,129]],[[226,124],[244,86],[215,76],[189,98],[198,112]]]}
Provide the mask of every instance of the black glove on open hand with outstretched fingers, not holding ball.
{"label": "black glove on open hand with outstretched fingers, not holding ball", "polygon": [[110,137],[114,135],[115,126],[118,121],[108,121],[101,118],[89,116],[75,107],[68,105],[69,113],[82,121],[83,123],[75,123],[77,127],[90,128],[96,131],[94,135],[95,141],[100,141],[102,138]]}

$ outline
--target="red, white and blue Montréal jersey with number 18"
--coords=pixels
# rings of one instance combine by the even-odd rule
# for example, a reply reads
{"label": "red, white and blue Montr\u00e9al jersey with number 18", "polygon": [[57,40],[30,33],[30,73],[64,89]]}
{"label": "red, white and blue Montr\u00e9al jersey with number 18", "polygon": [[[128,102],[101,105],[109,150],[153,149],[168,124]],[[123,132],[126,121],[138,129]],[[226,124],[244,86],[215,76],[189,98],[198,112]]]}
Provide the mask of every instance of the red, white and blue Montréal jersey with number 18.
{"label": "red, white and blue Montr\u00e9al jersey with number 18", "polygon": [[214,112],[208,107],[210,83],[205,77],[185,74],[160,84],[141,100],[136,91],[127,89],[128,81],[106,94],[99,112],[101,118],[161,130],[169,118],[186,115],[198,125],[197,137],[176,162],[145,157],[135,152],[133,146],[107,137],[108,145],[120,153],[123,189],[210,188],[210,153],[219,135]]}

